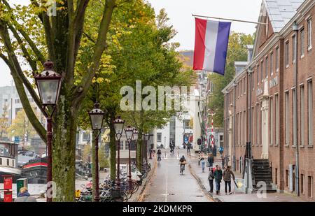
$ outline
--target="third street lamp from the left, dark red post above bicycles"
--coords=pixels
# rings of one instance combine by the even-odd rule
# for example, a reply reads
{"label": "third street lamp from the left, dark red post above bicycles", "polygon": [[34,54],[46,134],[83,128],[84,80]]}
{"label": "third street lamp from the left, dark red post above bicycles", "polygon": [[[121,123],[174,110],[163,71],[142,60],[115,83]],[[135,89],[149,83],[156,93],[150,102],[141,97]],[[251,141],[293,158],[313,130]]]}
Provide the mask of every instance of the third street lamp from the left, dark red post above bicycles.
{"label": "third street lamp from the left, dark red post above bicycles", "polygon": [[113,121],[115,127],[116,141],[118,141],[117,145],[117,176],[116,176],[116,189],[120,190],[120,138],[123,134],[125,121],[120,119],[120,116],[117,117],[116,120]]}

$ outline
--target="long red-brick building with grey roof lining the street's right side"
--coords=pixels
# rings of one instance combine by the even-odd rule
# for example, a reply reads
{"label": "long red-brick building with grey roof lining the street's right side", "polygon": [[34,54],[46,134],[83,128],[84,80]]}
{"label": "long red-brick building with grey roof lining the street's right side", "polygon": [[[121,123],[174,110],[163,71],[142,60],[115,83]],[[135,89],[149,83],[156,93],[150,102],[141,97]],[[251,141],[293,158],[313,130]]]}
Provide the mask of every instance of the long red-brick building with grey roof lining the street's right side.
{"label": "long red-brick building with grey roof lining the street's right side", "polygon": [[263,0],[258,22],[267,25],[258,24],[248,64],[223,89],[225,149],[233,168],[243,171],[251,142],[253,159],[268,159],[274,187],[308,201],[315,201],[314,5]]}

